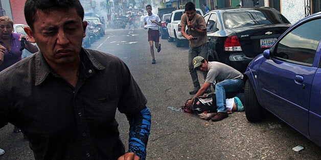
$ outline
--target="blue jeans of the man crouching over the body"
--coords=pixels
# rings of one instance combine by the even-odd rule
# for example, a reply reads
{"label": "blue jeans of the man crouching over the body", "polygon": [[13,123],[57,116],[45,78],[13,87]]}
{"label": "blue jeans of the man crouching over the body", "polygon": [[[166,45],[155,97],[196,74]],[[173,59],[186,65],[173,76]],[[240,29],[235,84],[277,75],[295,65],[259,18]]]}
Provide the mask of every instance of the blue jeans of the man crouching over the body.
{"label": "blue jeans of the man crouching over the body", "polygon": [[244,87],[243,79],[226,79],[215,85],[217,112],[227,112],[226,92],[239,91]]}

